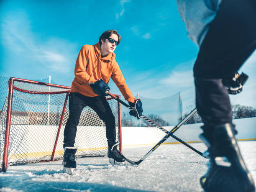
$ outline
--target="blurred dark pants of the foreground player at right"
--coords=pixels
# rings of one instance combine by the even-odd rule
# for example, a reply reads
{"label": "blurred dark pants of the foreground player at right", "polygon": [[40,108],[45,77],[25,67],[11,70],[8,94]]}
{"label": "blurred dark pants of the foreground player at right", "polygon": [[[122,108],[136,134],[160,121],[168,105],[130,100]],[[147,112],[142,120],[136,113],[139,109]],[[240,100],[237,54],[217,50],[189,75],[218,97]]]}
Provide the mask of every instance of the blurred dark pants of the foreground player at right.
{"label": "blurred dark pants of the foreground player at right", "polygon": [[222,79],[233,76],[255,49],[256,1],[223,0],[194,65],[196,106],[205,127],[232,122]]}

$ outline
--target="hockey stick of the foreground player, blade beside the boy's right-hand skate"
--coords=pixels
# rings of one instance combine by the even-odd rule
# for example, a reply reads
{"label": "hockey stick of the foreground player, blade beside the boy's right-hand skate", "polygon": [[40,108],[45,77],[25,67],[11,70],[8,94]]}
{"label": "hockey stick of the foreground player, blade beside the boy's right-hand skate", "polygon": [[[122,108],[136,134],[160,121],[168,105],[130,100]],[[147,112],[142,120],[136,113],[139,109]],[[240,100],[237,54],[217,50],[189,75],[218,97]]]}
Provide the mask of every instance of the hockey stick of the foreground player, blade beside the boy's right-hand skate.
{"label": "hockey stick of the foreground player, blade beside the boy's right-hand skate", "polygon": [[146,159],[153,151],[156,150],[156,148],[158,148],[162,143],[164,143],[164,141],[166,141],[166,139],[168,139],[170,136],[172,136],[172,134],[177,131],[184,123],[186,123],[190,118],[193,117],[193,115],[195,115],[195,113],[197,113],[197,109],[195,108],[194,110],[192,110],[186,118],[184,118],[183,120],[181,120],[178,125],[176,125],[166,136],[164,136],[153,148],[151,148],[150,151],[148,151],[148,153],[146,155],[144,155],[140,160],[138,161],[132,161],[128,158],[125,157],[125,160],[131,164],[135,164],[138,165],[140,164],[144,159]]}

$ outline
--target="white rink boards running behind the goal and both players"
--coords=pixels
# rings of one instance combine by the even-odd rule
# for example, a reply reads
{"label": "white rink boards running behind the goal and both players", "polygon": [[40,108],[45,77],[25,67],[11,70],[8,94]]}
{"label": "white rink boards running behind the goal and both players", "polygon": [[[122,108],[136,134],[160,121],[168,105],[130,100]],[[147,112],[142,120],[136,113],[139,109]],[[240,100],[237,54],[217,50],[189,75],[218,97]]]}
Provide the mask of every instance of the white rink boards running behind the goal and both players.
{"label": "white rink boards running behind the goal and both players", "polygon": [[[233,120],[233,123],[236,124],[236,129],[238,130],[237,139],[246,140],[246,139],[255,139],[256,138],[256,118],[244,118]],[[198,135],[202,133],[200,126],[202,123],[195,123],[189,125],[183,125],[179,128],[174,135],[186,142],[200,142]],[[17,125],[16,125],[17,126]],[[172,130],[173,126],[164,127],[166,130]],[[16,127],[17,129],[17,127]],[[15,138],[15,142],[18,143],[23,141],[24,145],[22,148],[11,147],[9,154],[27,154],[34,152],[44,152],[52,151],[54,148],[56,132],[58,126],[47,126],[47,125],[27,125],[26,131],[24,130],[23,125],[18,126],[16,132],[23,133],[24,137]],[[99,130],[97,126],[78,126],[77,135],[75,140],[75,146],[78,146],[82,149],[87,148],[106,148],[107,139],[105,136],[105,127],[101,128],[104,130]],[[97,143],[95,132],[97,133],[97,138],[105,138],[99,146]],[[61,127],[59,134],[58,143],[56,146],[56,151],[63,151],[63,136],[64,126]],[[94,134],[93,134],[94,133]],[[161,138],[166,135],[163,131],[155,127],[123,127],[122,128],[122,145],[144,145],[144,144],[153,144],[158,143]],[[84,141],[90,141],[90,146],[85,144]],[[10,142],[14,142],[12,134],[10,135]],[[26,142],[24,142],[26,141]],[[36,142],[35,142],[36,141]],[[170,137],[166,140],[165,143],[174,143],[177,142],[174,138]],[[37,147],[39,146],[40,147]],[[12,145],[13,146],[13,145]],[[40,148],[40,150],[39,150]]]}

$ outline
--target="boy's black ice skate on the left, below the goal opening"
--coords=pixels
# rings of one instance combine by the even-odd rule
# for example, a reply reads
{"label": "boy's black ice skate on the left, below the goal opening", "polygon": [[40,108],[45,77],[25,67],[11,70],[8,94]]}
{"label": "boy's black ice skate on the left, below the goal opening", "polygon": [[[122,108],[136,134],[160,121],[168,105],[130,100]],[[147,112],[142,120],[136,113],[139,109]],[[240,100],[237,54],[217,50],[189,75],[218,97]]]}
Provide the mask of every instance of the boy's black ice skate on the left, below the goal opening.
{"label": "boy's black ice skate on the left, below the goal opening", "polygon": [[63,171],[71,175],[74,172],[74,169],[77,168],[76,163],[76,154],[77,147],[65,147],[63,155]]}

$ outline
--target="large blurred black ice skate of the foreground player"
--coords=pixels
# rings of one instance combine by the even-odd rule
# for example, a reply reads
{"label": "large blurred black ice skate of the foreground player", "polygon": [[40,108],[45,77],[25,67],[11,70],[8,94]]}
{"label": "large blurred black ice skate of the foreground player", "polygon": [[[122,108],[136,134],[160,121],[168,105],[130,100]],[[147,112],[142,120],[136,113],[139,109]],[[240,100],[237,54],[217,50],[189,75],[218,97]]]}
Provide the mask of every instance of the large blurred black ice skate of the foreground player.
{"label": "large blurred black ice skate of the foreground player", "polygon": [[206,192],[255,192],[234,135],[230,123],[217,126],[212,136],[200,135],[210,153],[209,170],[200,179]]}

